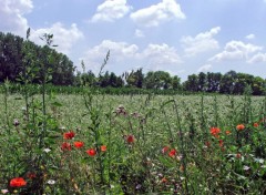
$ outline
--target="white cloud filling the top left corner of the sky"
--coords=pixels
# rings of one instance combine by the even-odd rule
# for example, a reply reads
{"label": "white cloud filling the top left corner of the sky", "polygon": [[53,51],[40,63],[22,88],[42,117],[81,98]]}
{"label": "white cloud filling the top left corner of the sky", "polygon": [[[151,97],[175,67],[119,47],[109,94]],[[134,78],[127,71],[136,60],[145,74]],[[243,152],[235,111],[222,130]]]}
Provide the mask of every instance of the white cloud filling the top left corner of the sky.
{"label": "white cloud filling the top left corner of the sky", "polygon": [[0,1],[0,29],[25,35],[28,21],[24,16],[33,9],[31,0],[1,0]]}

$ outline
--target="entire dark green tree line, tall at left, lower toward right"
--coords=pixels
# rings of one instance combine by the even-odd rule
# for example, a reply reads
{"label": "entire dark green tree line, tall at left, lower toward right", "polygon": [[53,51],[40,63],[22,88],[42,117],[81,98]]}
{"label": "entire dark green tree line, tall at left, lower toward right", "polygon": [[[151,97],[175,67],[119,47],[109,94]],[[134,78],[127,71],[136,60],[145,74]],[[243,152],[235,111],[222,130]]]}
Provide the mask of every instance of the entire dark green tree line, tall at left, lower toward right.
{"label": "entire dark green tree line, tall at left, lower toward right", "polygon": [[[48,55],[52,58],[48,59]],[[171,75],[165,71],[143,73],[142,69],[137,69],[124,72],[122,75],[109,71],[96,75],[91,70],[86,72],[83,62],[81,65],[83,72],[76,72],[76,68],[66,55],[57,52],[48,44],[40,47],[31,42],[28,37],[24,40],[11,33],[0,32],[0,83],[6,80],[22,84],[25,81],[40,83],[43,69],[45,69],[50,75],[49,82],[54,85],[81,86],[85,84],[91,88],[135,88],[222,94],[243,94],[249,91],[254,95],[266,94],[265,79],[235,71],[225,74],[200,72],[188,75],[187,80],[182,83],[177,75]]]}

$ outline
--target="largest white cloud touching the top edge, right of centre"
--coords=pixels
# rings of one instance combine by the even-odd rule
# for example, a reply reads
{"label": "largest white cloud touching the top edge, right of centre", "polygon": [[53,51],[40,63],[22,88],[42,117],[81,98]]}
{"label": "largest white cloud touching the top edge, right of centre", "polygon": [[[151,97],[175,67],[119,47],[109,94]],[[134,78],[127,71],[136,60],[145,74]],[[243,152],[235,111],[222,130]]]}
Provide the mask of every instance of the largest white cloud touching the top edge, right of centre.
{"label": "largest white cloud touching the top edge, right of centre", "polygon": [[157,4],[131,13],[131,19],[143,27],[157,27],[173,19],[185,19],[180,4],[175,0],[163,0]]}

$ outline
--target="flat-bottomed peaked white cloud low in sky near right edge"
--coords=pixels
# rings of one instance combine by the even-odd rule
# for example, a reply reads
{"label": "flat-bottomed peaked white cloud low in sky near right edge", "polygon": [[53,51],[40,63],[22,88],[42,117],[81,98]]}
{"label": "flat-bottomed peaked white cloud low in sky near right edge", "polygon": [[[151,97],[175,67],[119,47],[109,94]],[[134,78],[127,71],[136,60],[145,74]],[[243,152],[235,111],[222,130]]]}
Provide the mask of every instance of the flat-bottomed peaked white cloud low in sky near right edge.
{"label": "flat-bottomed peaked white cloud low in sky near right edge", "polygon": [[262,47],[242,41],[231,41],[226,43],[224,51],[214,55],[209,61],[227,61],[227,60],[244,60],[247,61],[249,55],[263,50]]}

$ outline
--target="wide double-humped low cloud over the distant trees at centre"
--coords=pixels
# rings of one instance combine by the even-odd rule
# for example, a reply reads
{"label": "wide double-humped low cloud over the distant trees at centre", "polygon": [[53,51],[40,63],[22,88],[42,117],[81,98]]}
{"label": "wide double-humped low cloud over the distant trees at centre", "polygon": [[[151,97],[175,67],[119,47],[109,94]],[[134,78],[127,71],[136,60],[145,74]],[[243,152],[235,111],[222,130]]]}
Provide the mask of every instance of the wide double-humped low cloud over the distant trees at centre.
{"label": "wide double-humped low cloud over the distant trees at centre", "polygon": [[129,65],[139,64],[139,66],[145,66],[150,70],[164,70],[167,65],[173,66],[173,64],[182,63],[176,50],[167,44],[149,44],[141,51],[136,44],[111,40],[103,40],[99,45],[90,48],[81,59],[90,70],[98,72],[109,50],[111,57],[108,68],[122,64],[127,65],[123,66],[123,70],[129,70],[131,69]]}

